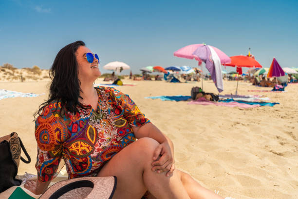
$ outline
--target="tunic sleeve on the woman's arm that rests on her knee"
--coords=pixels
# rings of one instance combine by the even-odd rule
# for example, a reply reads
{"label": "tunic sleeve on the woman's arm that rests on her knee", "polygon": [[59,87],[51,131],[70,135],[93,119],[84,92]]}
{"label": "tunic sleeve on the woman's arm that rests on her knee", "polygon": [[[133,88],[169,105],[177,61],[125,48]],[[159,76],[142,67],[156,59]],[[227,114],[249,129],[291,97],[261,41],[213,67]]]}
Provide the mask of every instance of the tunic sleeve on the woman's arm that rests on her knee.
{"label": "tunic sleeve on the woman's arm that rests on her knee", "polygon": [[118,104],[122,106],[122,109],[124,110],[124,118],[128,120],[130,126],[142,126],[150,122],[134,101],[130,99],[129,95],[125,95],[116,89],[114,89],[114,94],[118,100]]}

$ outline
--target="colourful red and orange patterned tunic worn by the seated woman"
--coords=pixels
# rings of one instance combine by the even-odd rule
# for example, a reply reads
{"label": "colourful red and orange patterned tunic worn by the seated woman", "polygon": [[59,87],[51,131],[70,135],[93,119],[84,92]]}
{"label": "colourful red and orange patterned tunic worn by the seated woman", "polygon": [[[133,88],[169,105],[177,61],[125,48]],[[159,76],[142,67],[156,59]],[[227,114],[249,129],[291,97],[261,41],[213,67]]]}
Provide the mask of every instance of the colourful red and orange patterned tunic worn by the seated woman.
{"label": "colourful red and orange patterned tunic worn by the seated woman", "polygon": [[128,95],[112,87],[96,90],[97,112],[89,105],[72,114],[53,101],[36,119],[39,181],[56,177],[61,158],[70,179],[96,176],[104,163],[136,140],[131,126],[149,122]]}

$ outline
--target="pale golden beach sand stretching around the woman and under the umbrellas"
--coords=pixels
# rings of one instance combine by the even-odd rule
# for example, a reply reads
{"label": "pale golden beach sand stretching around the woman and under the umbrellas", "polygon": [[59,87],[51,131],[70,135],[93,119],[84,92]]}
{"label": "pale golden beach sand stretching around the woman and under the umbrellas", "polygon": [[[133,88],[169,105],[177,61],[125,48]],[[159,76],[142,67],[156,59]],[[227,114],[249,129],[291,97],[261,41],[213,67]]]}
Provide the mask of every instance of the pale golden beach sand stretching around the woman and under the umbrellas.
{"label": "pale golden beach sand stretching around the woman and under the umbrellas", "polygon": [[[203,186],[236,199],[298,198],[298,84],[284,93],[256,93],[263,89],[241,81],[238,94],[264,95],[274,107],[251,109],[187,105],[187,102],[145,99],[159,95],[190,95],[199,83],[133,81],[117,87],[129,94],[140,110],[174,143],[176,168]],[[102,79],[96,83],[104,83]],[[0,82],[0,89],[46,95],[0,100],[0,136],[17,132],[32,158],[19,165],[19,175],[36,174],[37,143],[33,114],[48,95],[49,79]],[[235,93],[236,81],[224,81],[223,94]],[[217,93],[212,81],[204,90]]]}

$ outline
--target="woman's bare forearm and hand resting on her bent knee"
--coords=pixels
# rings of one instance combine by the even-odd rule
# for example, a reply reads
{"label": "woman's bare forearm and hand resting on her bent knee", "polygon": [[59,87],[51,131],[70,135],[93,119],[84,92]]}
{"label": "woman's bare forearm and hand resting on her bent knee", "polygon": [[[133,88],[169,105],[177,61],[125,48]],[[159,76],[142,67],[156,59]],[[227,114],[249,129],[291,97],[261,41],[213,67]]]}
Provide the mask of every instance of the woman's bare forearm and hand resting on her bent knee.
{"label": "woman's bare forearm and hand resting on her bent knee", "polygon": [[152,171],[157,171],[158,173],[168,171],[166,176],[171,175],[175,169],[172,141],[151,122],[141,127],[132,127],[132,130],[137,139],[148,137],[160,143],[153,154]]}

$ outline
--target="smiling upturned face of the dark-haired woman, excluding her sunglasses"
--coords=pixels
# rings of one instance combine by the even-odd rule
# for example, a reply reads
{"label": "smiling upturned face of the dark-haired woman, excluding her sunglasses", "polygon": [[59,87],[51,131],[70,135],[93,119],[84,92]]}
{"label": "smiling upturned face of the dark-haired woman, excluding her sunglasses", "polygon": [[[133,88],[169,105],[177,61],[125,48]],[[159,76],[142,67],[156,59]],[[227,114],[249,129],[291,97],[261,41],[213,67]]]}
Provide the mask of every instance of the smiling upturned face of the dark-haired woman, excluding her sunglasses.
{"label": "smiling upturned face of the dark-haired woman, excluding her sunglasses", "polygon": [[99,71],[98,60],[94,57],[92,63],[86,59],[86,53],[92,53],[86,46],[79,46],[75,52],[76,61],[78,63],[78,79],[82,81],[94,81],[101,76]]}

